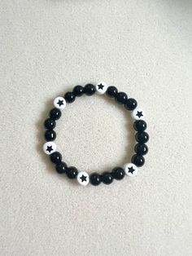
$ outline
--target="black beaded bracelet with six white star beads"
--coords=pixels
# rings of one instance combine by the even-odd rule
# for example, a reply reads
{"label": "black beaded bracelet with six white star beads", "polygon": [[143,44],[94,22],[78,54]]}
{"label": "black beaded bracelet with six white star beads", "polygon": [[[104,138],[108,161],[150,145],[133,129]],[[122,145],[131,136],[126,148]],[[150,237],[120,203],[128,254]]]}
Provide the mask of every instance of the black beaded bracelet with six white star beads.
{"label": "black beaded bracelet with six white star beads", "polygon": [[[124,104],[124,107],[129,111],[132,111],[131,116],[133,117],[134,123],[133,128],[137,131],[135,139],[137,144],[135,145],[134,151],[136,154],[131,158],[130,163],[126,163],[123,168],[116,167],[111,172],[105,171],[103,174],[93,173],[87,174],[85,171],[78,171],[74,166],[67,166],[62,161],[62,156],[56,151],[56,144],[53,142],[56,139],[55,126],[56,120],[61,117],[61,110],[65,108],[66,103],[71,104],[74,102],[76,97],[81,95],[106,95],[110,98],[114,98],[118,104]],[[50,110],[50,117],[46,119],[44,126],[46,127],[45,139],[46,143],[43,145],[43,151],[50,155],[50,161],[55,164],[55,169],[59,174],[67,174],[69,179],[76,179],[78,183],[86,186],[91,183],[97,186],[103,182],[105,184],[112,183],[113,179],[123,179],[124,175],[127,174],[129,177],[137,175],[137,167],[143,166],[145,158],[148,152],[146,142],[149,140],[149,135],[146,133],[146,121],[143,120],[145,113],[142,108],[137,108],[137,101],[128,96],[124,92],[118,92],[115,86],[107,86],[105,82],[99,82],[96,86],[87,84],[83,86],[75,86],[72,92],[67,92],[64,97],[57,97],[54,100],[55,108]]]}

